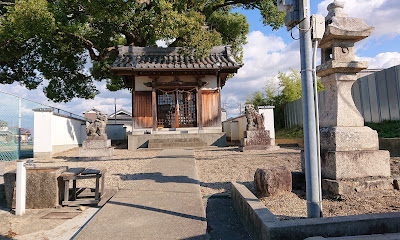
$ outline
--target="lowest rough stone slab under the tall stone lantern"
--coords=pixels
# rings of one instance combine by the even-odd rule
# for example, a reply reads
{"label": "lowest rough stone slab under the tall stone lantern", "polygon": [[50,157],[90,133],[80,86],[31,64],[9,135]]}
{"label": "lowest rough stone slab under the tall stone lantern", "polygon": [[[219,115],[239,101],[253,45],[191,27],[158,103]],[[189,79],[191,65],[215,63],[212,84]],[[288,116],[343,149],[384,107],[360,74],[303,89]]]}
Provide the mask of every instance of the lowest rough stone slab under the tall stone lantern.
{"label": "lowest rough stone slab under the tall stone lantern", "polygon": [[351,194],[370,190],[393,189],[392,178],[363,178],[353,180],[323,179],[322,189],[334,194]]}

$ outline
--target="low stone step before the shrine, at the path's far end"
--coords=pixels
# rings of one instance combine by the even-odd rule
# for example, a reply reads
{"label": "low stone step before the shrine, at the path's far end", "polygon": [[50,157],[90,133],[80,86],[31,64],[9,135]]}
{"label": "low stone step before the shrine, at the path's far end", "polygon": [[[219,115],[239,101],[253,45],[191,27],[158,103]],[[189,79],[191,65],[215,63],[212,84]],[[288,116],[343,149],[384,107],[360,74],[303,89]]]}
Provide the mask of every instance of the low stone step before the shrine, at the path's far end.
{"label": "low stone step before the shrine, at the path's far end", "polygon": [[148,148],[184,148],[205,146],[207,146],[207,144],[199,138],[161,138],[150,139]]}

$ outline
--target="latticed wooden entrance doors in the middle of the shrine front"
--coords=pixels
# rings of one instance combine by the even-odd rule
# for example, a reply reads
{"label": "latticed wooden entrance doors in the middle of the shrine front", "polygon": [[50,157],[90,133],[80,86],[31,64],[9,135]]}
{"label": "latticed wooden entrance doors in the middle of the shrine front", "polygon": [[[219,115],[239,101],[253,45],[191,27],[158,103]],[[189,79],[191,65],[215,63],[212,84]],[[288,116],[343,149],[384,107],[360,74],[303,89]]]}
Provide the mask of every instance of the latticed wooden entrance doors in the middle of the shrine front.
{"label": "latticed wooden entrance doors in the middle of the shrine front", "polygon": [[196,90],[157,90],[157,125],[163,128],[196,127]]}

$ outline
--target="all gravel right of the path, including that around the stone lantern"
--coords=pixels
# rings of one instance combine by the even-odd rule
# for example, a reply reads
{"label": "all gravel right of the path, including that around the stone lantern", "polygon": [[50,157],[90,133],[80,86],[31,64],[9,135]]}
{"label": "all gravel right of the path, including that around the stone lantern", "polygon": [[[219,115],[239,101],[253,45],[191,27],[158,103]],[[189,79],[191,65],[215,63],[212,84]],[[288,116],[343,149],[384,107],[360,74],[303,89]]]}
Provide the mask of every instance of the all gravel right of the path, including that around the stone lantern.
{"label": "all gravel right of the path, including that around the stone lantern", "polygon": [[[285,166],[301,171],[300,150],[281,148],[278,151],[239,152],[236,147],[197,150],[195,152],[203,195],[229,194],[230,181],[244,183],[254,192],[253,179],[257,168]],[[399,175],[400,157],[391,158],[392,175]],[[377,190],[346,196],[323,197],[325,217],[364,213],[400,211],[400,191]],[[305,192],[290,193],[260,199],[281,220],[305,218],[307,206]]]}

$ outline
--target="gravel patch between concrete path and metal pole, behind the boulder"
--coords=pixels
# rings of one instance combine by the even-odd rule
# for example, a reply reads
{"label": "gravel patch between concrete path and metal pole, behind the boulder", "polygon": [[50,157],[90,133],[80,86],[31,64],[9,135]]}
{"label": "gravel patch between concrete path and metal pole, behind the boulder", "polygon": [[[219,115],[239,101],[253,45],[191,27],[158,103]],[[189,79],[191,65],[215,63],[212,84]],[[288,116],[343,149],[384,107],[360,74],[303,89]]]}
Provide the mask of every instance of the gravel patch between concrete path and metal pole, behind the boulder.
{"label": "gravel patch between concrete path and metal pole, behind the boulder", "polygon": [[291,171],[301,171],[300,150],[293,148],[248,152],[240,152],[237,147],[209,148],[196,150],[195,156],[204,196],[230,194],[231,181],[253,190],[257,168],[285,166]]}

